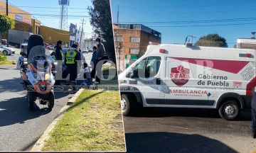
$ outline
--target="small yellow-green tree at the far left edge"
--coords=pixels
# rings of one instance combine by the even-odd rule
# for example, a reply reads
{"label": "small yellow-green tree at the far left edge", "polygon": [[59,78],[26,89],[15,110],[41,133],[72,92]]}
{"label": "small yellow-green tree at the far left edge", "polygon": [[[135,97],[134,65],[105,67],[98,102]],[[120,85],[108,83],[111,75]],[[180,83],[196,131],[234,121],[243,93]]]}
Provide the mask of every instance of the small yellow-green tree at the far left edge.
{"label": "small yellow-green tree at the far left edge", "polygon": [[4,14],[0,14],[0,42],[1,42],[1,34],[8,32],[8,30],[11,30],[14,28],[15,21],[12,18],[9,18],[9,16],[6,16]]}

